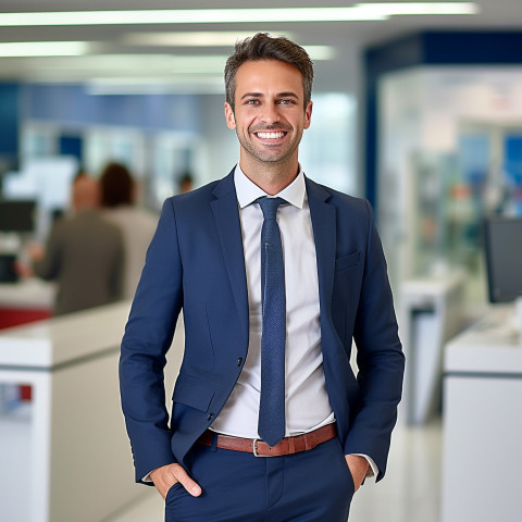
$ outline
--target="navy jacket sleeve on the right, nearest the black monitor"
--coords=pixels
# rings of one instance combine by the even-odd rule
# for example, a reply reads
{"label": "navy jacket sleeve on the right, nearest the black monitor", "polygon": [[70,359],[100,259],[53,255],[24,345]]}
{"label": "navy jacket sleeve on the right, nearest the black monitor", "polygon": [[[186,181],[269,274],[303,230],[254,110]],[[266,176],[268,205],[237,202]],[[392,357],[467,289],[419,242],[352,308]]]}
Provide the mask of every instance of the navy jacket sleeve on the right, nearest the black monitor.
{"label": "navy jacket sleeve on the right, nearest the black monitor", "polygon": [[359,394],[346,453],[372,457],[384,476],[391,430],[397,420],[405,357],[398,336],[393,296],[381,239],[370,217],[359,306],[353,327],[357,345]]}

